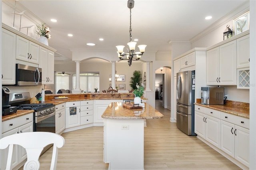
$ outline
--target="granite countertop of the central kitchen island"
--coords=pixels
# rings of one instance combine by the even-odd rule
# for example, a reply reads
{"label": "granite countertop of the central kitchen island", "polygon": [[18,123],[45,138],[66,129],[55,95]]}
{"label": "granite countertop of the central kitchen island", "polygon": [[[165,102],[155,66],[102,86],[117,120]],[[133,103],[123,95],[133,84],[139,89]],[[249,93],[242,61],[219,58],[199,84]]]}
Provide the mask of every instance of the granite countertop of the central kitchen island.
{"label": "granite countertop of the central kitchen island", "polygon": [[123,102],[110,103],[101,117],[104,119],[158,119],[164,117],[148,103],[145,103],[143,109],[126,109],[123,104]]}

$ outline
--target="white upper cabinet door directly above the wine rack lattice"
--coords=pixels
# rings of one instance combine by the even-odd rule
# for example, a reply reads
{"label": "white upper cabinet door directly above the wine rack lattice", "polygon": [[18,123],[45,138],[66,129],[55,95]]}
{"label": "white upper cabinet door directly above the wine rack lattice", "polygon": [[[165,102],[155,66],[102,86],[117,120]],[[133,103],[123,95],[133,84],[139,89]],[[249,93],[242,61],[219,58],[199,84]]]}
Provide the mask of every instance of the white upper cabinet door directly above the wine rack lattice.
{"label": "white upper cabinet door directly above the wine rack lattice", "polygon": [[250,67],[250,35],[236,39],[236,68]]}

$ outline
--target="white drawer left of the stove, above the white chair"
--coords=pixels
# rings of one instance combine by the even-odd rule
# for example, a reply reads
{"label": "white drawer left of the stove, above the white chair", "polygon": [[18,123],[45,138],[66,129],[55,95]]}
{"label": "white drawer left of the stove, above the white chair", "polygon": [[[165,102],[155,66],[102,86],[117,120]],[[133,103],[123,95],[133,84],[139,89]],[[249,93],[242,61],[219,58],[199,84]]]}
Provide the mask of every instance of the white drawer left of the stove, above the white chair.
{"label": "white drawer left of the stove, above the white chair", "polygon": [[14,128],[25,125],[26,123],[33,121],[33,113],[29,113],[27,115],[22,115],[20,117],[16,117],[13,119],[9,119],[7,121],[2,122],[2,133],[12,130]]}

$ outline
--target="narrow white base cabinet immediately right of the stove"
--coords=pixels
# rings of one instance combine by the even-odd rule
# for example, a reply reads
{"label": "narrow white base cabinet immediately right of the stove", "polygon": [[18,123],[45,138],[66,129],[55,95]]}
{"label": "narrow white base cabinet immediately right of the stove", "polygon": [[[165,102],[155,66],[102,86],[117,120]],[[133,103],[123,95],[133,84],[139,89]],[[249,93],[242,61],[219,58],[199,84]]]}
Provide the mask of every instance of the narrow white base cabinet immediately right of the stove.
{"label": "narrow white base cabinet immediately right of the stove", "polygon": [[55,106],[55,133],[61,134],[65,129],[65,103]]}

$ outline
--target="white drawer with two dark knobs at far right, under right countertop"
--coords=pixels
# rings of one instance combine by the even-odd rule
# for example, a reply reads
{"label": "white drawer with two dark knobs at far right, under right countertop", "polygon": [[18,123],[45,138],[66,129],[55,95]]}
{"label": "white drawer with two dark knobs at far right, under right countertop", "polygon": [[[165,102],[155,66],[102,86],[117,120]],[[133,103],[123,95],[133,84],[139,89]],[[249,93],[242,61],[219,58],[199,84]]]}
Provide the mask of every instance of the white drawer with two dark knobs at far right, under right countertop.
{"label": "white drawer with two dark knobs at far right, under right countertop", "polygon": [[246,119],[244,117],[240,117],[240,116],[231,115],[231,114],[228,114],[228,113],[221,112],[220,119],[223,120],[223,121],[233,123],[233,124],[238,125],[240,127],[244,127],[244,128],[248,128],[248,129],[250,128],[250,124],[249,124],[250,119]]}

